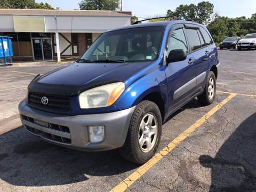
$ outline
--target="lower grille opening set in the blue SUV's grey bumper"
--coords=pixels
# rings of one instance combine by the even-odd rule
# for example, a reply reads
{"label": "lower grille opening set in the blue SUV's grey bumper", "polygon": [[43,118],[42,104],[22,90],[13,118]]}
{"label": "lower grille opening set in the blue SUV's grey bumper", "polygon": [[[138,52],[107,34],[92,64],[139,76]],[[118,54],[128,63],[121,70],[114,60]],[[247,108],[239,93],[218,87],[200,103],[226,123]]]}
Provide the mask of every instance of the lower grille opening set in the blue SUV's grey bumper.
{"label": "lower grille opening set in the blue SUV's grey bumper", "polygon": [[[22,115],[23,123],[26,129],[42,138],[57,141],[61,143],[71,143],[69,127],[57,125],[49,122],[38,121],[37,119]],[[38,124],[37,122],[41,122]],[[45,125],[42,125],[45,124]],[[38,128],[39,127],[39,128]],[[43,129],[40,129],[42,128]]]}

